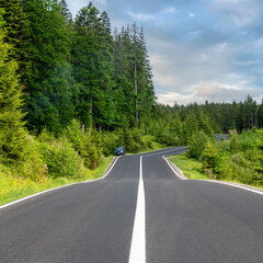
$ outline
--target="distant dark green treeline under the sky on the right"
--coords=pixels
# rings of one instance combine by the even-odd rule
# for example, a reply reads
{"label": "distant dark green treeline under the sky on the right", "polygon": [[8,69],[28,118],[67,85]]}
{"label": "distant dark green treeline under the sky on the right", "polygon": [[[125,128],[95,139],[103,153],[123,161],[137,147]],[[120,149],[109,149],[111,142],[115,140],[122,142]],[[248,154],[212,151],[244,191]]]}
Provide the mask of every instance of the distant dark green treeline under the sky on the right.
{"label": "distant dark green treeline under the sky on the right", "polygon": [[[236,129],[238,133],[252,129],[253,127],[263,127],[263,100],[258,104],[250,95],[244,102],[214,103],[206,101],[205,104],[192,103],[187,105],[159,105],[159,112],[162,112],[162,118],[171,119],[179,115],[184,122],[188,115],[192,122],[202,113],[205,115],[215,133],[225,133]],[[169,116],[169,117],[167,117]]]}

